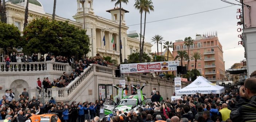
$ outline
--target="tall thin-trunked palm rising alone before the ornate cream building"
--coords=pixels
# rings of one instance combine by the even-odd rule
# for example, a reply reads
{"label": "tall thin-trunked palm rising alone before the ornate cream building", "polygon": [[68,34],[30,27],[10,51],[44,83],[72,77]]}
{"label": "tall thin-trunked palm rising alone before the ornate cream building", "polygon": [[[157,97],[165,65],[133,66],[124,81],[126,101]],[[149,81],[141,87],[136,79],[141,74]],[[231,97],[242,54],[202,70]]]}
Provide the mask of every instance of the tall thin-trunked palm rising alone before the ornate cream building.
{"label": "tall thin-trunked palm rising alone before the ornate cream building", "polygon": [[122,58],[122,41],[121,41],[121,11],[122,11],[122,8],[121,8],[121,3],[125,3],[127,4],[128,3],[128,0],[111,0],[111,2],[114,2],[116,1],[115,3],[115,6],[117,6],[119,4],[119,10],[120,10],[120,13],[119,13],[119,51],[120,51],[120,54],[119,54],[119,57],[120,57],[120,63],[123,61],[123,58]]}

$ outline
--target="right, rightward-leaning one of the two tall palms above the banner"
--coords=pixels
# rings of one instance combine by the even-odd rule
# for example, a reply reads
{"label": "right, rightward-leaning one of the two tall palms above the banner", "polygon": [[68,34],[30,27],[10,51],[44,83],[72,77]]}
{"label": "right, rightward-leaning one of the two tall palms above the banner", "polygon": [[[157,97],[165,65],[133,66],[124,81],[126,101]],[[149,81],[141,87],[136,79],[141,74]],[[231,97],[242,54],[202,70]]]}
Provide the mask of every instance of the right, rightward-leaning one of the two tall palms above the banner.
{"label": "right, rightward-leaning one of the two tall palms above the banner", "polygon": [[143,40],[142,40],[142,45],[141,45],[140,56],[142,56],[143,48],[144,48],[144,39],[145,39],[145,30],[146,30],[146,15],[147,15],[147,13],[150,14],[150,11],[154,11],[153,2],[151,0],[145,0],[144,11],[145,11],[144,30],[143,30],[144,32],[143,32]]}

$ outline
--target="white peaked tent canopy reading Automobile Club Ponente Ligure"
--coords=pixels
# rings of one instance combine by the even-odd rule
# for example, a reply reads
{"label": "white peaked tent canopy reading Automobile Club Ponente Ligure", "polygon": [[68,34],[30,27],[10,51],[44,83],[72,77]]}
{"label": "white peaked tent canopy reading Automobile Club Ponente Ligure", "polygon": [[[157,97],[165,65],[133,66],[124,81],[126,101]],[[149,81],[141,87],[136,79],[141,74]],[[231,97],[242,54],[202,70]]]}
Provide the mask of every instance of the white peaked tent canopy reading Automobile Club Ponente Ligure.
{"label": "white peaked tent canopy reading Automobile Club Ponente Ligure", "polygon": [[177,90],[175,94],[220,94],[223,92],[224,87],[213,84],[212,82],[205,79],[203,76],[199,76],[195,81],[187,85],[185,88]]}

